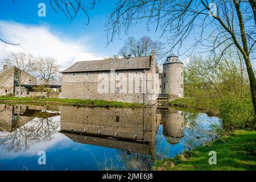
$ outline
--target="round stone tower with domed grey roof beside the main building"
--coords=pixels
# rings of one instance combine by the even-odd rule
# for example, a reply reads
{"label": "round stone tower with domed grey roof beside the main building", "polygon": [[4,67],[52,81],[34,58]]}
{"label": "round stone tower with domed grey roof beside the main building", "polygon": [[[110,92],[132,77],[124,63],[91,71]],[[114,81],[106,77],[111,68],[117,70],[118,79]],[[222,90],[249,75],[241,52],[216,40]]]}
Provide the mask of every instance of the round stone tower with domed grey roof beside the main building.
{"label": "round stone tower with domed grey roof beside the main building", "polygon": [[168,94],[169,100],[182,98],[184,94],[183,63],[173,54],[163,64],[162,93]]}

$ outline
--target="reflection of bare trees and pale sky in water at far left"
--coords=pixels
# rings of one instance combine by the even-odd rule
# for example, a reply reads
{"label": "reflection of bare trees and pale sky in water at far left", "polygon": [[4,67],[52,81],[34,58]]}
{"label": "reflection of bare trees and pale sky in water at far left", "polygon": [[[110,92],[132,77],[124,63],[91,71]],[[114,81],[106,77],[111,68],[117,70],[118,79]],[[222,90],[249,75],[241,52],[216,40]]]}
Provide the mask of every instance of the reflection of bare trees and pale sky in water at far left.
{"label": "reflection of bare trees and pale sky in water at far left", "polygon": [[41,118],[38,118],[23,117],[24,107],[20,105],[16,110],[16,117],[11,126],[13,131],[2,133],[1,136],[1,145],[6,152],[25,151],[36,143],[53,139],[60,122],[53,121],[53,117],[47,118],[49,114],[46,111],[40,111]]}

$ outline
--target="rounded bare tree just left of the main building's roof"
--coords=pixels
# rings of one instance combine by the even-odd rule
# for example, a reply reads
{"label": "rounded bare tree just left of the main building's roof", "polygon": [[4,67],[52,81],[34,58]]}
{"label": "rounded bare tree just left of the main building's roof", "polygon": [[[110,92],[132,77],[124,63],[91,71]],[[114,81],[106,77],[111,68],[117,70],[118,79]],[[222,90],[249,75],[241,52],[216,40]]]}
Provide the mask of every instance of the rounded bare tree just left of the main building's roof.
{"label": "rounded bare tree just left of the main building's roof", "polygon": [[52,58],[39,57],[35,61],[35,71],[38,73],[38,77],[44,80],[44,84],[48,85],[49,81],[57,77],[60,73],[59,65],[57,61]]}

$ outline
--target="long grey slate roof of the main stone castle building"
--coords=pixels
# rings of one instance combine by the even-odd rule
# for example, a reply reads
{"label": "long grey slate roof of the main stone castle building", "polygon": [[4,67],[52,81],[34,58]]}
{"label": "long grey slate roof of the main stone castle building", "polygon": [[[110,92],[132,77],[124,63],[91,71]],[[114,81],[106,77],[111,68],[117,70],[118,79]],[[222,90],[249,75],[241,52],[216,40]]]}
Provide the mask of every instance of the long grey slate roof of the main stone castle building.
{"label": "long grey slate roof of the main stone castle building", "polygon": [[132,69],[150,69],[151,56],[131,57],[131,59],[108,59],[96,61],[80,61],[73,64],[62,73],[77,72],[97,72],[115,70],[132,70]]}

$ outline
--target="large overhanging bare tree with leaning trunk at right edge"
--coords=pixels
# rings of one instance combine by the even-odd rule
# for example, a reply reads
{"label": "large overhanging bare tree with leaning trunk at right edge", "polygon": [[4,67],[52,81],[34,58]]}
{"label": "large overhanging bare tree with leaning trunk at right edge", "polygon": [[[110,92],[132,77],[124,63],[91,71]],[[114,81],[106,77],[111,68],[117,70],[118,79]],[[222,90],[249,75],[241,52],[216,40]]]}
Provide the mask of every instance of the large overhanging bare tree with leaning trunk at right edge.
{"label": "large overhanging bare tree with leaning trunk at right edge", "polygon": [[[200,48],[210,56],[220,55],[215,59],[217,64],[227,49],[237,48],[247,68],[256,115],[256,80],[250,61],[255,55],[255,0],[119,0],[106,22],[108,43],[143,20],[148,27],[155,24],[155,30],[168,35],[169,53],[175,49],[180,53],[181,47],[185,49],[183,53]],[[184,45],[187,39],[191,45]],[[221,48],[224,43],[227,46]]]}

